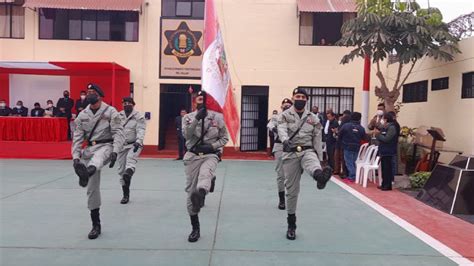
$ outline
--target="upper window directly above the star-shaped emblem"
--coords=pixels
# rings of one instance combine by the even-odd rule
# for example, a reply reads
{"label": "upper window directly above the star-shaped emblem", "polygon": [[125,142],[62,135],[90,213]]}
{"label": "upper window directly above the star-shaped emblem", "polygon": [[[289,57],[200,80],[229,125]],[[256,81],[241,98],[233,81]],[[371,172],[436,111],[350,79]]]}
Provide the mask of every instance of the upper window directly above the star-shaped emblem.
{"label": "upper window directly above the star-shaped emblem", "polygon": [[204,0],[163,0],[161,16],[204,18]]}

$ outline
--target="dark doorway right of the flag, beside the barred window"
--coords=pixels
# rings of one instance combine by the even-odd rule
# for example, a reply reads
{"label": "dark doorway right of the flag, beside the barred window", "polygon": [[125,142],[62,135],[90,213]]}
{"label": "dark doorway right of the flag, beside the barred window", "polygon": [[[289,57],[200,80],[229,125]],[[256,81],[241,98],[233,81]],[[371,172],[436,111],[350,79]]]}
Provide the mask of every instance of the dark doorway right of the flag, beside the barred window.
{"label": "dark doorway right of the flag, beside the barred window", "polygon": [[241,151],[267,149],[268,86],[242,86]]}

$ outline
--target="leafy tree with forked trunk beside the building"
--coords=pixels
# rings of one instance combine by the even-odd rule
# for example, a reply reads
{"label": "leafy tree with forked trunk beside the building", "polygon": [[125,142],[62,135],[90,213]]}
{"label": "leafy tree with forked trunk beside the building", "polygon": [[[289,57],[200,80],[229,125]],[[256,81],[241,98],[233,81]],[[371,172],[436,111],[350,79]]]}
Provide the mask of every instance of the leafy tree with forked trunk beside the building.
{"label": "leafy tree with forked trunk beside the building", "polygon": [[[459,53],[458,39],[442,22],[437,8],[421,9],[419,5],[390,0],[357,0],[357,17],[341,28],[340,46],[355,47],[341,59],[347,64],[357,57],[369,56],[377,67],[380,86],[375,95],[384,101],[387,110],[394,110],[400,90],[422,57],[451,61]],[[388,56],[396,56],[397,76],[391,89],[381,71],[380,63]],[[404,68],[408,67],[408,71]]]}

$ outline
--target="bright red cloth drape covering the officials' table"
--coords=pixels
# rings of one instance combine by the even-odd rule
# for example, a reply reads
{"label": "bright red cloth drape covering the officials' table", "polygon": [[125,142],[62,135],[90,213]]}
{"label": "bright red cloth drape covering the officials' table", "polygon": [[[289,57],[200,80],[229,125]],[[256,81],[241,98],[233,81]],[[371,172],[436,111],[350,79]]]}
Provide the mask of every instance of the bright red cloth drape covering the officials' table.
{"label": "bright red cloth drape covering the officials' table", "polygon": [[0,117],[0,141],[65,141],[67,129],[67,118]]}

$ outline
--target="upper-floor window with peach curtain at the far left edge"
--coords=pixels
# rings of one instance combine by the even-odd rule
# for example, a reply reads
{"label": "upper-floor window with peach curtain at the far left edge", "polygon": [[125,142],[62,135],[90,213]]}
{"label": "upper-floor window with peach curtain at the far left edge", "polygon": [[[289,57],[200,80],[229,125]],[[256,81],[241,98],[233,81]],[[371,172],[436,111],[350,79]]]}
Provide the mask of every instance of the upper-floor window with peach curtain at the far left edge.
{"label": "upper-floor window with peach curtain at the far left edge", "polygon": [[25,8],[23,2],[15,0],[9,3],[0,3],[0,38],[25,38]]}

